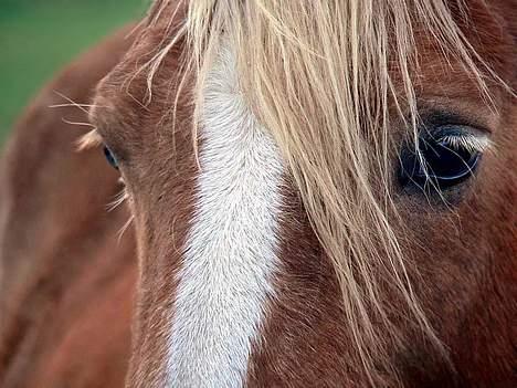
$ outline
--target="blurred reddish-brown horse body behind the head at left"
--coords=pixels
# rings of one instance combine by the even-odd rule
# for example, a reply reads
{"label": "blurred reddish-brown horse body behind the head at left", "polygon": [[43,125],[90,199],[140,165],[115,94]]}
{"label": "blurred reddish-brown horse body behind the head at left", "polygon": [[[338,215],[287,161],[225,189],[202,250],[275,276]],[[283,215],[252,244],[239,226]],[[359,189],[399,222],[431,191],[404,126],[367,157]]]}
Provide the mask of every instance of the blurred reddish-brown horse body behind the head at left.
{"label": "blurred reddish-brown horse body behind the head at left", "polygon": [[[131,39],[118,32],[34,99],[3,153],[0,178],[0,386],[122,387],[136,261],[120,190],[98,149],[76,151],[80,108]],[[59,92],[60,94],[57,94]],[[63,120],[65,119],[65,120]]]}

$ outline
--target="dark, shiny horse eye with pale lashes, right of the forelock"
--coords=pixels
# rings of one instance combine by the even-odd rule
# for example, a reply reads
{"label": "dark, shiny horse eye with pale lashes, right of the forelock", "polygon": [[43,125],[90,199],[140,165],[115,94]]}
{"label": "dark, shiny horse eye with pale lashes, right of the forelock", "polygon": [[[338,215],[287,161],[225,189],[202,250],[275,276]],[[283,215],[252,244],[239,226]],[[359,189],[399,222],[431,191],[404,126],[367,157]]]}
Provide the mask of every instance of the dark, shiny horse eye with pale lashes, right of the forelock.
{"label": "dark, shiny horse eye with pale lashes, right of the forelock", "polygon": [[[419,138],[420,156],[409,147],[401,155],[399,180],[423,190],[444,190],[468,179],[488,140],[462,126],[443,126]],[[413,147],[414,148],[414,147]]]}

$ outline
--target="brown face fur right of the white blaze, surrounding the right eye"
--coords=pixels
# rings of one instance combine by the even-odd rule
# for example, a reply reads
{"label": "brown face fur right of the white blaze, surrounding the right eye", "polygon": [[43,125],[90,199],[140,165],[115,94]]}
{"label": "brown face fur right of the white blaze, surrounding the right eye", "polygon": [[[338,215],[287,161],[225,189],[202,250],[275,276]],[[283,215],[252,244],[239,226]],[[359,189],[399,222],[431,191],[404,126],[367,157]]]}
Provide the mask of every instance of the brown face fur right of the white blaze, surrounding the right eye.
{"label": "brown face fur right of the white blaze, surrounding the right eye", "polygon": [[[504,2],[494,4],[500,12],[495,19],[476,13],[474,6],[471,12],[481,36],[476,49],[515,87],[517,50],[506,23],[517,22],[517,13],[511,6],[505,7]],[[516,18],[498,25],[504,14]],[[476,192],[467,188],[453,209],[395,193],[401,217],[410,226],[403,251],[421,273],[421,277],[412,274],[413,283],[439,338],[451,350],[452,366],[413,332],[394,295],[384,302],[393,304],[391,314],[404,327],[407,344],[390,349],[408,387],[509,388],[517,384],[517,326],[511,324],[517,318],[517,218],[511,210],[517,205],[517,176],[508,169],[517,155],[513,146],[517,139],[515,97],[495,93],[499,109],[495,114],[466,74],[447,74],[442,57],[424,61],[418,86],[421,114],[447,107],[483,123],[498,146],[485,156],[473,183]],[[498,181],[498,174],[505,176],[504,182]],[[333,269],[307,220],[299,218],[299,199],[287,195],[287,234],[281,255],[286,264],[277,281],[281,297],[266,325],[266,345],[257,347],[251,363],[250,386],[286,386],[287,381],[292,387],[363,386],[358,355],[350,347],[347,323],[335,297],[338,285],[329,281]],[[377,367],[387,386],[400,384],[383,366]]]}

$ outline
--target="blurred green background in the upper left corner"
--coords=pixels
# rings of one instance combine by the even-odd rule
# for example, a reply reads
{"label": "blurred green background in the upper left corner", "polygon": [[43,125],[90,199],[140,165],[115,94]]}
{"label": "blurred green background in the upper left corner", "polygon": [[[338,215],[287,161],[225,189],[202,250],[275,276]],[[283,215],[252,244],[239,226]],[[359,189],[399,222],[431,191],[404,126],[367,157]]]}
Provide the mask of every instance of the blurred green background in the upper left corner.
{"label": "blurred green background in the upper left corner", "polygon": [[0,0],[0,143],[52,75],[148,0]]}

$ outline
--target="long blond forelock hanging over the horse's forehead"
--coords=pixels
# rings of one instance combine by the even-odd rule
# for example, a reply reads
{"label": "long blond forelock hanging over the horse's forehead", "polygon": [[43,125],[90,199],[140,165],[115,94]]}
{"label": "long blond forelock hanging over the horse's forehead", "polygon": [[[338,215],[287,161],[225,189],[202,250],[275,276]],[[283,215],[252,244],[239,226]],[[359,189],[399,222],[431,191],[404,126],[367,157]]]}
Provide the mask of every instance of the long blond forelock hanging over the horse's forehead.
{"label": "long blond forelock hanging over the horse's forehead", "polygon": [[[188,65],[197,77],[196,118],[202,112],[207,74],[224,43],[236,57],[240,92],[277,141],[331,260],[369,382],[382,384],[379,365],[394,373],[388,344],[403,346],[381,283],[403,301],[408,321],[443,350],[413,293],[393,228],[400,220],[390,193],[389,108],[394,106],[405,118],[418,144],[412,78],[418,67],[416,30],[426,31],[446,62],[461,64],[489,99],[484,80],[494,74],[456,24],[450,8],[454,1],[181,3],[187,15],[179,34],[187,38]],[[170,1],[161,7],[170,7]],[[455,7],[466,17],[462,0]],[[178,35],[172,38],[178,41]],[[156,57],[162,59],[167,50],[170,45]],[[155,63],[152,69],[157,67]],[[395,84],[402,92],[397,87],[395,93]]]}

